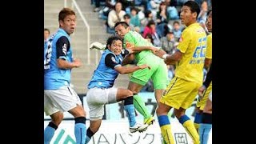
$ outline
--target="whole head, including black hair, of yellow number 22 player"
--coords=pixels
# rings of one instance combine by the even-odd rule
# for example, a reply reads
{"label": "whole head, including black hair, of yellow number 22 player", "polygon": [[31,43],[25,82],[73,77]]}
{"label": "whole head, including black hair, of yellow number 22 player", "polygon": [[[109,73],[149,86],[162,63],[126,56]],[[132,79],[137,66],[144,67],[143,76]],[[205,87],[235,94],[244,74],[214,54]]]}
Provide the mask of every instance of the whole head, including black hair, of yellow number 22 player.
{"label": "whole head, including black hair, of yellow number 22 player", "polygon": [[198,14],[200,13],[200,7],[197,2],[187,1],[182,6],[181,20],[186,26],[190,26],[194,22],[197,22]]}

